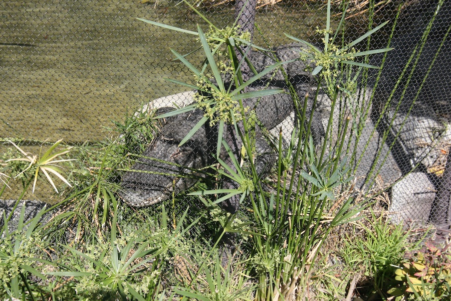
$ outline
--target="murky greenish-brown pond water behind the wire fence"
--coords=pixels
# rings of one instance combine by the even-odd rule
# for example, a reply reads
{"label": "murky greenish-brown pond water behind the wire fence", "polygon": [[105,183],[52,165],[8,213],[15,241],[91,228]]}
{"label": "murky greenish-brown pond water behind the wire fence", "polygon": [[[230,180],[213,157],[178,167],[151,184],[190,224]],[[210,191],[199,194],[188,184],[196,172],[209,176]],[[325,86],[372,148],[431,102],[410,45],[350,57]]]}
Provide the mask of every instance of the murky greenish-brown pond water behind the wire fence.
{"label": "murky greenish-brown pond water behind the wire fence", "polygon": [[[232,23],[232,6],[203,12],[219,26]],[[324,16],[304,5],[275,7],[260,10],[257,25],[278,45],[288,42],[284,32],[311,37]],[[207,29],[191,10],[172,1],[2,1],[0,136],[102,139],[111,134],[111,120],[123,120],[126,111],[186,90],[164,80],[189,81],[169,48],[187,53],[195,49],[195,39],[135,17]],[[255,41],[265,45],[262,36]],[[195,55],[190,60],[195,62]]]}

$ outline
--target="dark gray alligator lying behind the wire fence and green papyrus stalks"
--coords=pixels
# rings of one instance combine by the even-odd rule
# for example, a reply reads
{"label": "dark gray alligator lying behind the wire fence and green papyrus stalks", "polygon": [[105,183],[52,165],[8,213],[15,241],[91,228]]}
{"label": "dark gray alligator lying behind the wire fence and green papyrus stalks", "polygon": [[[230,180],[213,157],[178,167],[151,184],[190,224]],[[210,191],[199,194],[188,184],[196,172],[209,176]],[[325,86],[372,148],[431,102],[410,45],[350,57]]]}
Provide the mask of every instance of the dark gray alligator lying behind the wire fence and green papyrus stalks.
{"label": "dark gray alligator lying behind the wire fence and green papyrus stalks", "polygon": [[[299,58],[303,46],[291,44],[274,49],[280,61]],[[274,59],[263,53],[253,53],[251,62],[258,72],[275,63]],[[303,101],[309,92],[307,114],[313,106],[313,78],[309,66],[297,60],[284,65],[288,78],[293,85],[299,100]],[[261,124],[267,129],[276,127],[293,110],[294,101],[288,92],[285,77],[281,71],[267,75],[260,82],[249,87],[249,91],[261,89],[283,88],[285,93],[247,99],[246,104],[255,109]],[[302,103],[300,104],[302,107]],[[164,109],[167,110],[167,109]],[[203,111],[195,109],[166,119],[159,137],[148,146],[138,162],[122,177],[121,197],[132,206],[150,206],[168,199],[192,186],[203,177],[204,167],[214,163],[211,156],[215,151],[217,128],[205,124],[185,144],[178,146],[189,130],[202,118]],[[316,141],[324,135],[319,112],[314,112],[315,122],[312,134]],[[207,122],[208,123],[208,122]],[[224,138],[230,135],[224,132]],[[275,162],[275,155],[261,131],[256,132],[256,170],[260,176],[269,172]],[[228,156],[222,150],[220,157]],[[236,211],[237,208],[231,209]]]}

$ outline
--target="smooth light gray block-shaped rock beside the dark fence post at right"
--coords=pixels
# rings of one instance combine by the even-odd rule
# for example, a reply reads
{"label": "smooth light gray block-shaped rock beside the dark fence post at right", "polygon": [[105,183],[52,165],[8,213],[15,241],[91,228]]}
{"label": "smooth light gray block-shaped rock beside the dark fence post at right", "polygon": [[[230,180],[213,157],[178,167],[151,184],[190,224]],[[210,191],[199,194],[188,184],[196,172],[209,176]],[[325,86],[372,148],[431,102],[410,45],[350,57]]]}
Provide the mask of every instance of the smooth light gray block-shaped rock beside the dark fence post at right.
{"label": "smooth light gray block-shaped rock beside the dark fence post at right", "polygon": [[388,209],[392,222],[426,222],[435,198],[434,185],[425,173],[408,174],[393,185],[391,205]]}

